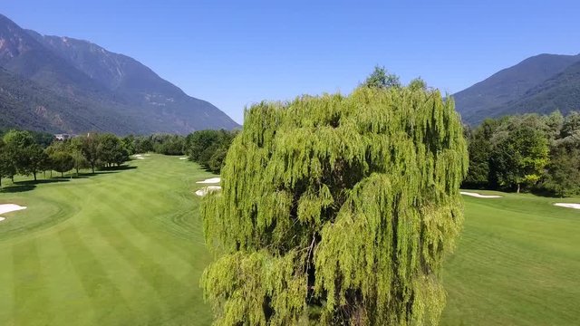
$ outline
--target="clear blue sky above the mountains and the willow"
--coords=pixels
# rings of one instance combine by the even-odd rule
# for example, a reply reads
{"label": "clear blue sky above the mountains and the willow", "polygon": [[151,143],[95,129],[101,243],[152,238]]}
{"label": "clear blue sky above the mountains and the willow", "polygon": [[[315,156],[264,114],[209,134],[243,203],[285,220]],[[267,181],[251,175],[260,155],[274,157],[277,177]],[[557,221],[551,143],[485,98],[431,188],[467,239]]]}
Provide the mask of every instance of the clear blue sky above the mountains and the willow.
{"label": "clear blue sky above the mountains and the willow", "polygon": [[261,100],[353,90],[375,64],[449,93],[539,53],[580,53],[580,2],[5,0],[41,34],[143,62],[242,122]]}

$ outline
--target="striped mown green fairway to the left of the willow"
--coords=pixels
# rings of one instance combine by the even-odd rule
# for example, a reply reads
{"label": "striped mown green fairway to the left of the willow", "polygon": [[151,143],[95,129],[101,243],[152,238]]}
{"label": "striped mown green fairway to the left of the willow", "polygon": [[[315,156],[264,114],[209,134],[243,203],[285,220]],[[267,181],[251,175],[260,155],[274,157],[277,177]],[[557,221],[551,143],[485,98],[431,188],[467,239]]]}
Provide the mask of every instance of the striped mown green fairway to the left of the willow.
{"label": "striped mown green fairway to the left of the willow", "polygon": [[193,191],[212,176],[176,157],[130,166],[0,193],[28,206],[0,222],[0,325],[210,323]]}

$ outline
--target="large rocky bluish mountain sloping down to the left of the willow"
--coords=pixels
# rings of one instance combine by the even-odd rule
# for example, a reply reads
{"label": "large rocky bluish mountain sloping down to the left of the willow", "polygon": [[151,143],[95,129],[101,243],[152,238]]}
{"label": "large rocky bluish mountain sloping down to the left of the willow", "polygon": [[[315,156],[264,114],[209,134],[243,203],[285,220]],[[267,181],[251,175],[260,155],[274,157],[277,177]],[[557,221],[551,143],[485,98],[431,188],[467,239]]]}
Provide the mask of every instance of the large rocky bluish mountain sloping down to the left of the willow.
{"label": "large rocky bluish mountain sloping down to the left of the willow", "polygon": [[24,30],[1,14],[0,66],[0,128],[127,134],[237,127],[128,56]]}

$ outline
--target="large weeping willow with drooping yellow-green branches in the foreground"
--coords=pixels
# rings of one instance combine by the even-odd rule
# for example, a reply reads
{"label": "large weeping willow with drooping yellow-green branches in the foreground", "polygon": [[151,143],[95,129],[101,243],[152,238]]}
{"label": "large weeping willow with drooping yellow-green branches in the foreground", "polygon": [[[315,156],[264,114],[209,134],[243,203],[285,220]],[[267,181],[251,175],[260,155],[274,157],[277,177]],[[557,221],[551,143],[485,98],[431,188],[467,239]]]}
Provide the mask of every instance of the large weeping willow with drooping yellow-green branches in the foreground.
{"label": "large weeping willow with drooping yellow-green branches in the foreground", "polygon": [[361,87],[245,118],[202,206],[215,323],[436,324],[468,168],[453,101]]}

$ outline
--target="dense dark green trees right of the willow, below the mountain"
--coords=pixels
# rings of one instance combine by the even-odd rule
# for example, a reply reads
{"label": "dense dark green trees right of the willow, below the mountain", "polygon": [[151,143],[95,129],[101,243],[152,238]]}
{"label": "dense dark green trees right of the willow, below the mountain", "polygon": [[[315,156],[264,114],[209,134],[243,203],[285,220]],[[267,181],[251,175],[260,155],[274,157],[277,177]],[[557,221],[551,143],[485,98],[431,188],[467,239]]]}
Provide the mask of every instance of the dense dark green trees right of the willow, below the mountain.
{"label": "dense dark green trees right of the willow, below the mountain", "polygon": [[580,194],[580,112],[507,116],[465,130],[464,187]]}

